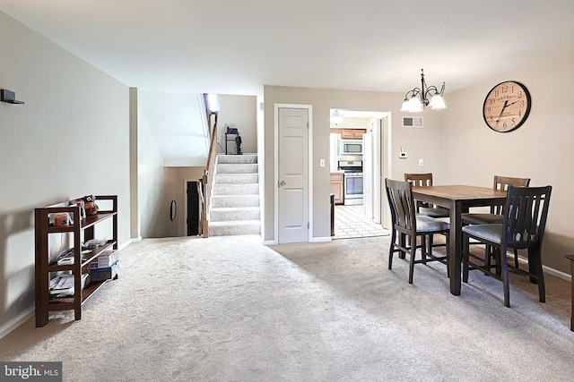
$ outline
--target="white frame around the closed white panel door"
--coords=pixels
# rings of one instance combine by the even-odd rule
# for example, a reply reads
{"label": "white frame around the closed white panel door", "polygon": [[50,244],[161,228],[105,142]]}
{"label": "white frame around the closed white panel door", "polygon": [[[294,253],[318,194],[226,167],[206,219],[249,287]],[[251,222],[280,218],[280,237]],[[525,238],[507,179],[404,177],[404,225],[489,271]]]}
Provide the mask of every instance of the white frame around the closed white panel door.
{"label": "white frame around the closed white panel door", "polygon": [[309,175],[308,175],[308,198],[309,198],[309,232],[308,242],[313,238],[313,106],[300,104],[274,104],[274,244],[279,244],[279,109],[307,109],[309,113]]}

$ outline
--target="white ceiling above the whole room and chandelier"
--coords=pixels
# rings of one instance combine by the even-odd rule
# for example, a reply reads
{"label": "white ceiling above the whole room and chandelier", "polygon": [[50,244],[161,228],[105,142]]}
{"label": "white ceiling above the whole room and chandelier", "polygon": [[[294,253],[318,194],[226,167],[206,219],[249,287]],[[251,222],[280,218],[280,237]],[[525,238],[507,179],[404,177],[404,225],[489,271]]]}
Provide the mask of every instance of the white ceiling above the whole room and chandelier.
{"label": "white ceiling above the whole room and chandelier", "polygon": [[126,86],[166,94],[405,93],[422,68],[448,93],[574,53],[572,0],[0,0],[0,10]]}

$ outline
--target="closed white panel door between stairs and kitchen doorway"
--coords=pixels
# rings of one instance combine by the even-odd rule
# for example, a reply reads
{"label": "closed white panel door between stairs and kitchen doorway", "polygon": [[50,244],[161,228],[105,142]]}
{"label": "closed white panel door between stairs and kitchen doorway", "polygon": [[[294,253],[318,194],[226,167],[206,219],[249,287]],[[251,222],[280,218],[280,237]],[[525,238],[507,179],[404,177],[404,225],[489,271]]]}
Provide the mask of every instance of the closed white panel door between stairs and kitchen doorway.
{"label": "closed white panel door between stairs and kitchen doorway", "polygon": [[278,109],[278,242],[309,242],[309,109]]}

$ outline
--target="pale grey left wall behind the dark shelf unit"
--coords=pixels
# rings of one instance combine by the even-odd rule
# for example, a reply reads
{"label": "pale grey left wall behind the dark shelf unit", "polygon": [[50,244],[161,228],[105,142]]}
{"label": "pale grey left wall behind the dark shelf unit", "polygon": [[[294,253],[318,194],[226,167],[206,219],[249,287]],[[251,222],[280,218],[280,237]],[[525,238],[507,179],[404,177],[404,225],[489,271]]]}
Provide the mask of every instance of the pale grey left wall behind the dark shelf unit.
{"label": "pale grey left wall behind the dark shelf unit", "polygon": [[36,207],[117,194],[129,242],[129,89],[0,12],[0,336],[34,308]]}

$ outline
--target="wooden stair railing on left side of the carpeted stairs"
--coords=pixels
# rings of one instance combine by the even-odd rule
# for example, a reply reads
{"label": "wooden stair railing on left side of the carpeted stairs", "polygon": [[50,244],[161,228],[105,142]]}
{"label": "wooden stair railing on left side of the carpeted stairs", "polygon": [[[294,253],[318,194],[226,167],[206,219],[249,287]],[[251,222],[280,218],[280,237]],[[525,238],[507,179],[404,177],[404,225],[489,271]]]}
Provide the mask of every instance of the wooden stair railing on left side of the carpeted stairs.
{"label": "wooden stair railing on left side of the carpeted stairs", "polygon": [[[207,116],[207,127],[210,132],[209,153],[207,163],[204,168],[204,176],[197,182],[197,192],[199,193],[199,234],[204,238],[209,237],[209,209],[212,202],[213,175],[215,174],[215,158],[217,157],[217,111],[210,110],[207,102],[207,94],[204,94],[205,113]],[[213,126],[212,126],[213,121]]]}

